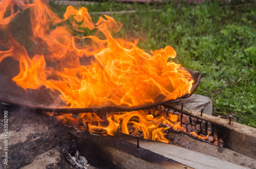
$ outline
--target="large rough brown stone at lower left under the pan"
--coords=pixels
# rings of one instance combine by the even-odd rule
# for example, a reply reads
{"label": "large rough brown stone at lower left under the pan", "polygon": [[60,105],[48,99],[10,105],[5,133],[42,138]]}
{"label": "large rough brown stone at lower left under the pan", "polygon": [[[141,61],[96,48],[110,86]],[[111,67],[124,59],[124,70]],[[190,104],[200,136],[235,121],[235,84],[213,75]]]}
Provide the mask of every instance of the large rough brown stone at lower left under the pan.
{"label": "large rough brown stone at lower left under the pan", "polygon": [[[62,155],[69,147],[67,128],[45,113],[28,109],[8,110],[8,165],[5,168],[70,168]],[[0,119],[3,123],[4,119]],[[0,131],[4,138],[4,131]],[[61,145],[60,145],[61,144]],[[0,142],[4,147],[4,142]],[[0,149],[4,154],[4,149]],[[0,161],[0,168],[1,163]]]}

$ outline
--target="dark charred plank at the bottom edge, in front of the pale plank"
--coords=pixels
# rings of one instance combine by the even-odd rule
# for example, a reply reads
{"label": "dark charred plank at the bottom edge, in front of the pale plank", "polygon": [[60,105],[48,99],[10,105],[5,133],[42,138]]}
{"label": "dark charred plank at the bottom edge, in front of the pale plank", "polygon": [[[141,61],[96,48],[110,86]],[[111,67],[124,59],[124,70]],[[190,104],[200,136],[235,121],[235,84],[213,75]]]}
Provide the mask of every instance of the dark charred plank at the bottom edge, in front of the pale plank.
{"label": "dark charred plank at the bottom edge, in front of the pale plank", "polygon": [[[89,134],[88,132],[75,133],[72,131],[70,133],[82,155],[96,160],[108,160],[121,168],[191,168],[151,150],[137,149],[136,144],[122,139],[124,134],[112,137]],[[132,138],[137,141],[135,137]]]}

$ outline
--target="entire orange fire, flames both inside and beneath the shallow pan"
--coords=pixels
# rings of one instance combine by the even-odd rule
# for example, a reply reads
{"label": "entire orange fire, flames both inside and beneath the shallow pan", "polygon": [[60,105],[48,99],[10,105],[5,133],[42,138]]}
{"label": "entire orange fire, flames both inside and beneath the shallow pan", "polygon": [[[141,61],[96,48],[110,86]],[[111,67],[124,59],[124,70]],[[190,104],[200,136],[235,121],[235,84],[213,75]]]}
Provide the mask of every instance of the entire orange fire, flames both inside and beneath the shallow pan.
{"label": "entire orange fire, flames both inside and beneath the shallow pan", "polygon": [[[19,33],[11,31],[12,20],[26,12],[33,49],[26,49],[15,37]],[[138,39],[131,42],[114,38],[113,33],[121,27],[120,22],[106,15],[94,23],[84,7],[77,10],[69,6],[61,19],[43,0],[34,0],[33,4],[27,0],[1,1],[0,33],[6,38],[1,38],[0,44],[6,50],[0,51],[0,62],[6,57],[19,61],[19,74],[13,78],[17,85],[25,90],[48,88],[69,108],[141,106],[190,92],[194,81],[188,71],[180,64],[167,62],[176,57],[172,47],[148,54],[137,46]],[[84,36],[86,32],[93,35]],[[95,113],[56,118],[80,129],[85,129],[88,122],[91,132],[110,135],[117,130],[129,134],[127,125],[132,125],[144,133],[144,138],[165,142],[165,128],[159,124],[181,129],[174,124],[175,116],[158,119],[143,111],[108,114],[105,119]]]}

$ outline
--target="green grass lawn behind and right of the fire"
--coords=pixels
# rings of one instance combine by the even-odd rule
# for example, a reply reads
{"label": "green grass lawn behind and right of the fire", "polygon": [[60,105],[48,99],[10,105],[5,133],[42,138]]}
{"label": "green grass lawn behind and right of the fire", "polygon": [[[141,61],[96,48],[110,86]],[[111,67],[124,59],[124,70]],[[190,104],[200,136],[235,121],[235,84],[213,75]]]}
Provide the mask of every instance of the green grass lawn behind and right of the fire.
{"label": "green grass lawn behind and right of the fire", "polygon": [[[237,122],[256,127],[256,3],[103,2],[85,7],[89,12],[136,9],[136,13],[112,15],[124,23],[116,36],[139,37],[138,46],[145,51],[173,46],[176,63],[203,75],[196,93],[211,98],[216,115],[232,114]],[[65,9],[53,6],[58,14]],[[98,17],[93,15],[94,21]]]}

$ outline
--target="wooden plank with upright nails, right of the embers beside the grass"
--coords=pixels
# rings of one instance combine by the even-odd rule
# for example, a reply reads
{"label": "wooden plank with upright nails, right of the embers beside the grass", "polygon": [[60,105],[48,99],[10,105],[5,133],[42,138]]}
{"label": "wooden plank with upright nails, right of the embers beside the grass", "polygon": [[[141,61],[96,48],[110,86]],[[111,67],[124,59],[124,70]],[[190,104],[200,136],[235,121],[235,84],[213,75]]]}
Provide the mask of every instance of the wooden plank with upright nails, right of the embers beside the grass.
{"label": "wooden plank with upright nails, right of the embers beside the grass", "polygon": [[[164,106],[172,108],[177,111],[181,111],[181,107],[174,104],[164,104]],[[256,129],[245,126],[236,122],[231,122],[229,125],[228,119],[219,118],[209,114],[203,113],[200,116],[200,112],[195,110],[183,108],[183,113],[205,120],[218,126],[223,132],[226,133],[225,147],[243,154],[247,157],[256,159]]]}

